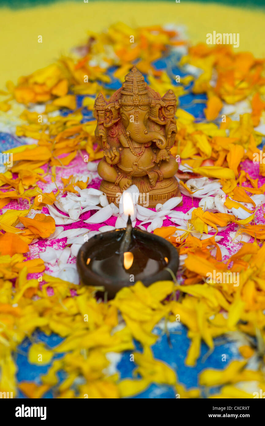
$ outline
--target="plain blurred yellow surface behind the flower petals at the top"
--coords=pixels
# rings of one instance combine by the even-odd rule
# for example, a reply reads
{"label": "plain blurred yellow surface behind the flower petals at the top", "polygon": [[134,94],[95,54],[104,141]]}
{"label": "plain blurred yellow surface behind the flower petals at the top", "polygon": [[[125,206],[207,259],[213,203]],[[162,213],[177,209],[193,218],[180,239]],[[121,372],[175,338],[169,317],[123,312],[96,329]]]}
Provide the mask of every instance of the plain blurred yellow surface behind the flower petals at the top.
{"label": "plain blurred yellow surface behind the flower petals at the top", "polygon": [[[237,51],[265,58],[265,13],[217,4],[175,0],[160,2],[59,2],[31,9],[0,9],[0,88],[7,80],[54,62],[86,40],[88,29],[101,31],[123,21],[130,26],[175,23],[186,26],[191,43],[206,41],[206,34],[239,33]],[[37,42],[42,35],[43,43]]]}

